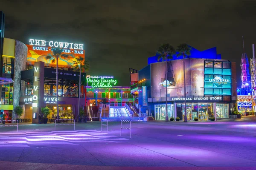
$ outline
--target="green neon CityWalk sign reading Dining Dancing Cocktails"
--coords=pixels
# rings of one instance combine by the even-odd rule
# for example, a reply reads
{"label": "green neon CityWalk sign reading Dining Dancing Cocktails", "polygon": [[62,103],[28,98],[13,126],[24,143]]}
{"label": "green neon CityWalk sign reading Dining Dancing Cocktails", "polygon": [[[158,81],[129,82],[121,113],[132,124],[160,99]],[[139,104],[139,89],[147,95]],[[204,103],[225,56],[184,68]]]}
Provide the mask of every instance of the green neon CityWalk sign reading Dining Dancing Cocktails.
{"label": "green neon CityWalk sign reading Dining Dancing Cocktails", "polygon": [[111,88],[116,85],[117,80],[113,76],[86,76],[86,82],[92,88]]}

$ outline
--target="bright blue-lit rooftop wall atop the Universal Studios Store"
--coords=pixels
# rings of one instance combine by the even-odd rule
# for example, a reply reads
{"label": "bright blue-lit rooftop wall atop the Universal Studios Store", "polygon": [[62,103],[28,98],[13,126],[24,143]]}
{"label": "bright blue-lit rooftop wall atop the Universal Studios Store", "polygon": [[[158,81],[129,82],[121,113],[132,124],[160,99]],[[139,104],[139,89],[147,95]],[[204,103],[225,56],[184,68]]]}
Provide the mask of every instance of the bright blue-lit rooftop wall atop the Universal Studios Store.
{"label": "bright blue-lit rooftop wall atop the Universal Studios Store", "polygon": [[[162,61],[162,60],[157,61],[157,58],[158,58],[158,54],[156,54],[156,56],[153,56],[153,57],[148,57],[148,64]],[[217,54],[216,47],[209,48],[204,51],[199,51],[192,47],[191,56],[187,58],[221,59],[221,54]],[[183,56],[177,57],[177,55],[175,55],[173,56],[173,59],[168,59],[168,60],[175,60],[175,59],[183,59]]]}

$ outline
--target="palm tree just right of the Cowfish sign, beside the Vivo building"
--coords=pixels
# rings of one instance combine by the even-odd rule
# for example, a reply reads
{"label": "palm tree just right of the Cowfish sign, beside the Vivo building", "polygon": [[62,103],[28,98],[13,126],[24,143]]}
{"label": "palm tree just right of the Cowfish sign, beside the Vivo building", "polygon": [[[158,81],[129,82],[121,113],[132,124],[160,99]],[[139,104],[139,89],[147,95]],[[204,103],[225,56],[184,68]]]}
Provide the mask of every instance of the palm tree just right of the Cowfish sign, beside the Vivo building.
{"label": "palm tree just right of the Cowfish sign, beside the Vivo building", "polygon": [[[78,108],[79,108],[79,105],[80,105],[80,91],[81,91],[81,71],[84,73],[85,71],[88,71],[89,68],[90,68],[90,65],[88,63],[87,60],[84,60],[83,57],[79,56],[79,57],[76,57],[75,60],[73,61],[74,62],[74,71],[78,71],[79,70],[79,92],[78,92]],[[79,112],[79,109],[78,109],[78,113],[77,113],[77,116],[76,116],[76,122],[81,122],[81,119],[80,119],[80,112]]]}

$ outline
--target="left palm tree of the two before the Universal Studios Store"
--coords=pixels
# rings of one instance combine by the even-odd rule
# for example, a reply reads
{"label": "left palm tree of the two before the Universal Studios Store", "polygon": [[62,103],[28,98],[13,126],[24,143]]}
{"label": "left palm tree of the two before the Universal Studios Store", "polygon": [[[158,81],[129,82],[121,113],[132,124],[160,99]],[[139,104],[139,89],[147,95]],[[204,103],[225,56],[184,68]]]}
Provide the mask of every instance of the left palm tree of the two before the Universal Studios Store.
{"label": "left palm tree of the two before the Universal Studios Store", "polygon": [[167,59],[172,59],[172,56],[175,54],[175,49],[172,47],[170,44],[163,44],[161,45],[158,50],[157,54],[159,54],[157,60],[159,61],[160,59],[166,60],[166,121],[168,121],[168,109],[167,109],[167,72],[168,72],[168,63]]}

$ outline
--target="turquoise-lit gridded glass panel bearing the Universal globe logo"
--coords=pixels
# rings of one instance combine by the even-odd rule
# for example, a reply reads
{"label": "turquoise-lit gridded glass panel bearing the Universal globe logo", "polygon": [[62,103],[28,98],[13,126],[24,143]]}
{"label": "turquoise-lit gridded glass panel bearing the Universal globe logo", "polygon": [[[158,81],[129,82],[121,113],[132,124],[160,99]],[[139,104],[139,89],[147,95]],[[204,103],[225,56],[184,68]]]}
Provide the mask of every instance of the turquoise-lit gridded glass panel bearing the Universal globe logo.
{"label": "turquoise-lit gridded glass panel bearing the Universal globe logo", "polygon": [[204,61],[204,95],[231,95],[231,62]]}

